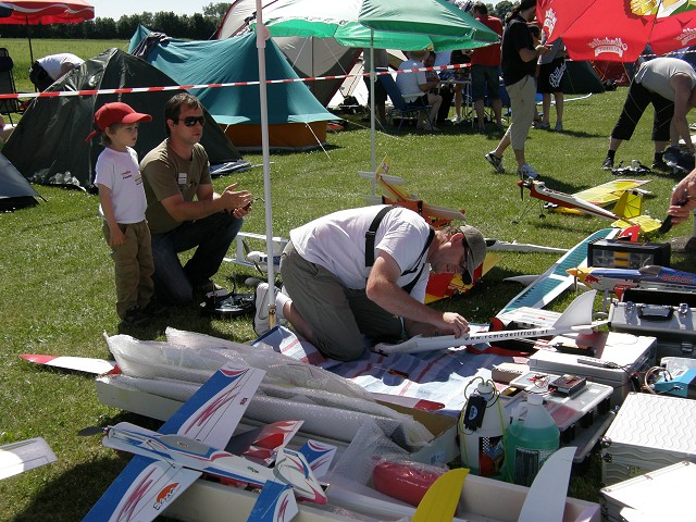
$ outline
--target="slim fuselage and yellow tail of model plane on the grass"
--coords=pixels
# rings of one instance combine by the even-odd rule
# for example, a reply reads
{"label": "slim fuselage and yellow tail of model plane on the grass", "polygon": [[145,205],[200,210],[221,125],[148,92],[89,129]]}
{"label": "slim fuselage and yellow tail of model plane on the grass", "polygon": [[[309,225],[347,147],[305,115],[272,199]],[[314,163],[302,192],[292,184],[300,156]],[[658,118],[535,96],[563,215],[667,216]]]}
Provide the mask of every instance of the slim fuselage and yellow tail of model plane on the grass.
{"label": "slim fuselage and yellow tail of model plane on the grass", "polygon": [[598,204],[585,201],[576,195],[550,189],[544,182],[525,179],[519,181],[518,185],[522,188],[529,188],[530,195],[533,198],[559,207],[575,209],[588,215],[611,220],[611,226],[617,228],[627,228],[632,225],[639,225],[643,233],[649,233],[659,229],[662,224],[659,220],[642,214],[643,195],[638,191],[624,191],[619,198],[613,211],[610,211]]}

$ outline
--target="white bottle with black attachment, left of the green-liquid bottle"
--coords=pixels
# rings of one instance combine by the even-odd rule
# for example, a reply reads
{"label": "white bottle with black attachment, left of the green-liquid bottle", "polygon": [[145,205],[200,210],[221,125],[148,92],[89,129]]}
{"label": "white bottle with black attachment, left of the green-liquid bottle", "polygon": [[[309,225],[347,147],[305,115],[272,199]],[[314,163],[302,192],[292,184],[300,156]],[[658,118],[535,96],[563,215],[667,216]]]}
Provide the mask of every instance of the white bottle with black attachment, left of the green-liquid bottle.
{"label": "white bottle with black attachment, left of the green-liquid bottle", "polygon": [[510,418],[498,399],[493,382],[481,380],[476,391],[468,397],[458,424],[462,465],[476,475],[490,478],[502,478],[502,437],[510,424]]}

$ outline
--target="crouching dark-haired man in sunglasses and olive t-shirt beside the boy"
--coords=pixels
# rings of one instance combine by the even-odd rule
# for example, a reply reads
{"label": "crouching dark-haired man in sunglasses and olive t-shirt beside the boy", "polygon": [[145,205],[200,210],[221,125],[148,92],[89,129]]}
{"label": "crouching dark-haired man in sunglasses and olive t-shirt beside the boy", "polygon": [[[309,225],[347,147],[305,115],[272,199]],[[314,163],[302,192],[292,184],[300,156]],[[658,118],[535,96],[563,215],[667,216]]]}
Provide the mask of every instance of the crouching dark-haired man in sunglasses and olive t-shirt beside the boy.
{"label": "crouching dark-haired man in sunglasses and olive t-shirt beside the boy", "polygon": [[[198,295],[224,290],[211,277],[249,212],[251,192],[231,185],[213,190],[208,154],[199,144],[203,105],[188,92],[164,105],[167,138],[140,162],[152,234],[154,294],[158,301],[186,304]],[[178,253],[196,249],[182,266]]]}

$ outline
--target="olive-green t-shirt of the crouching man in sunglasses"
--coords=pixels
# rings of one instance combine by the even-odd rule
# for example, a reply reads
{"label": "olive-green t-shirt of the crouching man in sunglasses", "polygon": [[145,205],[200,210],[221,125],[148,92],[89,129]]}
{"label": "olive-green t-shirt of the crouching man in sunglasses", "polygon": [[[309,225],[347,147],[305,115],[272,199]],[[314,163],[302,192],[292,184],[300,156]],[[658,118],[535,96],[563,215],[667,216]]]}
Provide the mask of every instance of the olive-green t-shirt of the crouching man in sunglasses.
{"label": "olive-green t-shirt of the crouching man in sunglasses", "polygon": [[181,225],[166,211],[163,199],[181,194],[184,201],[192,201],[201,185],[212,184],[208,154],[200,144],[194,146],[191,159],[184,160],[165,139],[142,158],[140,172],[148,200],[145,216],[152,234],[164,234]]}

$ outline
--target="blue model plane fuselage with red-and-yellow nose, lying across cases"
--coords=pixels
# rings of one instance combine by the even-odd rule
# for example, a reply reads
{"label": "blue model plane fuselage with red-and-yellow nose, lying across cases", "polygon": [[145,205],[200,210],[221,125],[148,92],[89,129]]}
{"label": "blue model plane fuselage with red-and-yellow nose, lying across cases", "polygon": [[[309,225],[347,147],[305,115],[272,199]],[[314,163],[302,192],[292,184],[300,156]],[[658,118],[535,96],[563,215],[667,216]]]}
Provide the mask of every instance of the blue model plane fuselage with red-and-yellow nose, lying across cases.
{"label": "blue model plane fuselage with red-and-yellow nose, lying across cases", "polygon": [[693,291],[696,288],[696,274],[657,265],[638,270],[587,266],[569,269],[567,272],[595,290],[642,287]]}

